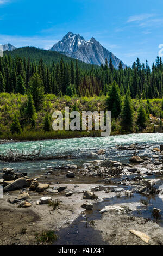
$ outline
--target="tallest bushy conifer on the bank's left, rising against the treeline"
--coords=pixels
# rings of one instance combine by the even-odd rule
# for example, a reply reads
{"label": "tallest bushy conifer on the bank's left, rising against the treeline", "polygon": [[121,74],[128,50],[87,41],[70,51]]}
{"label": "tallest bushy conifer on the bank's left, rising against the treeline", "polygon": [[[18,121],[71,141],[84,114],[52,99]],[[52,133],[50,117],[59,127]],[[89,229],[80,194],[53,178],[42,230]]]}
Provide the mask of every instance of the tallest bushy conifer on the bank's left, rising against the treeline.
{"label": "tallest bushy conifer on the bank's left, rising against the treeline", "polygon": [[30,78],[29,87],[32,93],[36,111],[39,111],[44,96],[43,81],[40,78],[39,74],[35,73]]}

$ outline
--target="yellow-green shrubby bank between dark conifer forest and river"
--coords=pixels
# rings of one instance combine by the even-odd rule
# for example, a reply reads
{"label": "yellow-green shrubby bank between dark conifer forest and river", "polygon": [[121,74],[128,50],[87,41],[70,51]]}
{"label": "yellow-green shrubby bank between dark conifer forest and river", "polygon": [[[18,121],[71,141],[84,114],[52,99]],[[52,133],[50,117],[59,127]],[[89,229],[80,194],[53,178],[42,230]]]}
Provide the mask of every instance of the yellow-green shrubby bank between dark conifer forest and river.
{"label": "yellow-green shrubby bank between dark conifer forest and river", "polygon": [[[161,112],[161,99],[150,100],[151,114],[147,120],[146,129],[141,131],[137,130],[136,119],[137,109],[140,106],[139,100],[132,100],[134,107],[134,129],[136,132],[162,132],[160,127],[160,112]],[[147,100],[142,101],[143,106],[146,108]],[[21,94],[0,94],[0,139],[17,139],[17,140],[36,140],[36,139],[64,139],[74,137],[97,137],[101,136],[99,131],[43,131],[43,120],[48,112],[53,122],[52,113],[56,110],[64,111],[65,106],[70,107],[70,112],[76,107],[79,112],[82,111],[105,111],[106,97],[57,97],[53,94],[47,94],[44,97],[41,109],[37,112],[35,129],[31,129],[30,124],[26,123],[26,115],[23,114],[26,108],[27,96]],[[12,135],[10,126],[17,114],[22,126],[22,133]],[[163,121],[163,120],[162,120]],[[111,135],[120,135],[126,133],[121,128],[121,117],[117,120],[112,120]]]}

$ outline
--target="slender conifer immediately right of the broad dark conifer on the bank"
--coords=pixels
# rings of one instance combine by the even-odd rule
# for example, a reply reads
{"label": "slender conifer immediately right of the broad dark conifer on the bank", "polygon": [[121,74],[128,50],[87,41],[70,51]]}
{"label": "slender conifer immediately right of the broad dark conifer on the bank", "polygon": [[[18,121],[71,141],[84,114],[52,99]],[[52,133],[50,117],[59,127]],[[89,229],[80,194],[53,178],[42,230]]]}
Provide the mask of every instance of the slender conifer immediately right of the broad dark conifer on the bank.
{"label": "slender conifer immediately right of the broad dark conifer on the bank", "polygon": [[122,110],[122,128],[126,131],[133,131],[134,109],[131,102],[130,89],[128,87]]}

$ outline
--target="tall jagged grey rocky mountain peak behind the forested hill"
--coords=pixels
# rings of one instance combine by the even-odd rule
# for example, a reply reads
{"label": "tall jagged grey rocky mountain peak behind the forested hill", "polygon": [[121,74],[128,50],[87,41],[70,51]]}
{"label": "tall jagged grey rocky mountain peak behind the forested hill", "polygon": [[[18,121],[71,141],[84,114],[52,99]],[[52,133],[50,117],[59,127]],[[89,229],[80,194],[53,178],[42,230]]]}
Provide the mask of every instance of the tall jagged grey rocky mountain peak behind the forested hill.
{"label": "tall jagged grey rocky mountain peak behind the forested hill", "polygon": [[61,41],[57,42],[57,44],[54,44],[50,50],[61,52],[62,54],[89,64],[101,65],[105,63],[106,58],[108,62],[111,58],[112,64],[116,69],[118,69],[120,62],[123,68],[126,66],[112,52],[109,52],[97,42],[95,38],[86,41],[79,34],[73,34],[72,32],[68,32],[67,35],[65,35]]}

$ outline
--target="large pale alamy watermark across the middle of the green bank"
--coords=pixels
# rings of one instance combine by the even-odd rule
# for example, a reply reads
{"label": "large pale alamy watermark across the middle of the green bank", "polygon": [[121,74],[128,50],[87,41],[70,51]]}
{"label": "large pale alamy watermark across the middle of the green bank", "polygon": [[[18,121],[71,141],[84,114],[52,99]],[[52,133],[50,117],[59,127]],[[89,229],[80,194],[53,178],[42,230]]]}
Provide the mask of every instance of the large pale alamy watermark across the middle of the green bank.
{"label": "large pale alamy watermark across the middle of the green bank", "polygon": [[65,107],[64,114],[61,111],[54,111],[54,131],[101,131],[101,136],[110,136],[111,133],[111,112],[110,111],[78,111],[70,113],[69,107]]}

